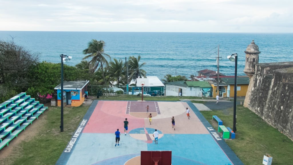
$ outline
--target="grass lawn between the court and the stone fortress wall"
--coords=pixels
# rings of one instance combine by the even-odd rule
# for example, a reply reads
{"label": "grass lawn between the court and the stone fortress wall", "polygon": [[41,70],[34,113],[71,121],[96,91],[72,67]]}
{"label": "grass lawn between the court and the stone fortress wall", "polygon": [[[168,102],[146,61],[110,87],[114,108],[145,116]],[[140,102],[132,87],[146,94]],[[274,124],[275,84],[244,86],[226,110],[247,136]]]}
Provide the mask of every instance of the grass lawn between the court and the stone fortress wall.
{"label": "grass lawn between the court and the stone fortress wall", "polygon": [[[228,109],[228,114],[226,112],[201,111],[216,130],[217,122],[212,121],[212,115],[217,115],[226,127],[233,128],[233,107]],[[293,142],[284,134],[242,105],[237,106],[236,123],[236,138],[226,143],[244,164],[262,164],[264,154],[273,157],[274,165],[292,164]]]}

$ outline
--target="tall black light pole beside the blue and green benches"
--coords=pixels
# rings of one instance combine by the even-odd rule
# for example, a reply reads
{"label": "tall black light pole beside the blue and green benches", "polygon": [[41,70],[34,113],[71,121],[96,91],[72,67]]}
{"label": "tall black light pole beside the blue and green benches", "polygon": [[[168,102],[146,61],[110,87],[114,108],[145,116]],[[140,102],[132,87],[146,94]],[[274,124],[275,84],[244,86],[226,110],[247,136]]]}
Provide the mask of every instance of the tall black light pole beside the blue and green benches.
{"label": "tall black light pole beside the blue and green benches", "polygon": [[230,61],[235,61],[235,80],[234,80],[234,110],[233,110],[233,132],[236,132],[236,99],[237,99],[237,53],[228,55]]}

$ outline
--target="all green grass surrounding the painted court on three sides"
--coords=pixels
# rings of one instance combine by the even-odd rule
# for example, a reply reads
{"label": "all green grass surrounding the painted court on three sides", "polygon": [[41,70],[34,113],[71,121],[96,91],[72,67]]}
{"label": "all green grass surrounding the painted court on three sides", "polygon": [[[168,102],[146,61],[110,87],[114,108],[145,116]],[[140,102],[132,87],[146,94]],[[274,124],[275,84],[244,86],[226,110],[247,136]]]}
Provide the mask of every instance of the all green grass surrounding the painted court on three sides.
{"label": "all green grass surrounding the painted court on three sides", "polygon": [[[96,98],[96,97],[91,97]],[[144,97],[144,100],[157,101],[179,101],[179,99],[200,99],[198,97]],[[98,100],[141,100],[141,96],[100,96]],[[203,103],[204,101],[192,101]],[[53,165],[59,159],[62,151],[65,149],[69,139],[76,130],[79,122],[84,117],[89,106],[64,107],[64,132],[60,132],[60,107],[49,107],[44,115],[35,122],[42,122],[38,126],[30,125],[25,132],[21,134],[30,134],[26,136],[18,145],[13,145],[0,150],[0,165],[27,165],[44,164]],[[217,115],[222,119],[226,127],[233,127],[233,108],[228,110],[201,111],[202,115],[217,130],[217,123],[212,121],[212,115]],[[260,117],[244,108],[237,107],[237,131],[236,139],[226,140],[226,143],[243,161],[244,164],[254,165],[262,164],[263,155],[270,154],[273,157],[274,165],[292,164],[291,154],[293,153],[293,142],[285,135],[269,126]],[[30,129],[29,127],[33,128]],[[37,128],[37,129],[34,129]],[[11,149],[11,154],[2,156],[6,150]],[[215,158],[216,159],[216,158]]]}

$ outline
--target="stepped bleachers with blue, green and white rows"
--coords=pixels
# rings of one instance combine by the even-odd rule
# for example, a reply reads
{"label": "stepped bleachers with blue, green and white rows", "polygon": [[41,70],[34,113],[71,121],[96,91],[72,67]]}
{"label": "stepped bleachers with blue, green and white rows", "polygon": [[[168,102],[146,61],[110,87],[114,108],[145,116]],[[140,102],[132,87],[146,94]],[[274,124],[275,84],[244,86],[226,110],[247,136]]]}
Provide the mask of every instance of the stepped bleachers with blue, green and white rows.
{"label": "stepped bleachers with blue, green and white rows", "polygon": [[0,149],[44,113],[44,107],[34,98],[20,93],[0,104]]}

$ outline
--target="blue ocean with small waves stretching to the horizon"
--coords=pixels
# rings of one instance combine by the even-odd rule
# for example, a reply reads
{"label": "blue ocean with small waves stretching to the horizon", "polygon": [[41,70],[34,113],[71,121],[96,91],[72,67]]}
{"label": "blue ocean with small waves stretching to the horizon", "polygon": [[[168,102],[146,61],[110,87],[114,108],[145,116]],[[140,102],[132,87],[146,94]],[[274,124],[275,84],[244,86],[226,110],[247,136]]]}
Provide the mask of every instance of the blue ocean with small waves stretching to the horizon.
{"label": "blue ocean with small waves stretching to the horizon", "polygon": [[164,32],[49,32],[0,31],[0,40],[12,40],[31,52],[42,53],[40,61],[60,63],[60,54],[73,58],[67,65],[76,65],[85,56],[82,51],[92,39],[105,41],[105,53],[125,62],[130,56],[141,56],[146,62],[147,76],[171,74],[198,75],[203,69],[234,75],[234,62],[226,57],[238,53],[238,75],[245,75],[246,47],[252,40],[261,51],[259,63],[293,61],[293,33],[164,33]]}

